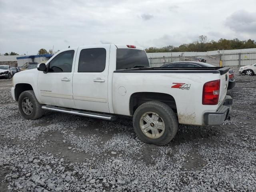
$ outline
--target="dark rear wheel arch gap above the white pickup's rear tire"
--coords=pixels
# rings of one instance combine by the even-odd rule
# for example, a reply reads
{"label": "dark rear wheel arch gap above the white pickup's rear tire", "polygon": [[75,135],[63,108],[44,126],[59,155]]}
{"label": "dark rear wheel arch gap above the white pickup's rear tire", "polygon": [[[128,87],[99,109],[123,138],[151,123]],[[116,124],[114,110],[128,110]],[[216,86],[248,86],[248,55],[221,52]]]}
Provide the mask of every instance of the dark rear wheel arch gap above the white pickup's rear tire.
{"label": "dark rear wheel arch gap above the white pickup's rear tire", "polygon": [[160,101],[172,108],[177,112],[175,99],[172,95],[160,92],[135,92],[130,96],[129,112],[133,115],[135,110],[143,103],[148,101]]}

